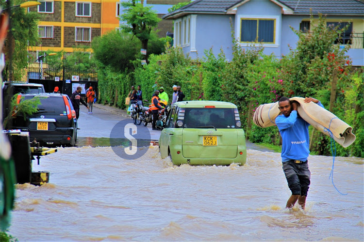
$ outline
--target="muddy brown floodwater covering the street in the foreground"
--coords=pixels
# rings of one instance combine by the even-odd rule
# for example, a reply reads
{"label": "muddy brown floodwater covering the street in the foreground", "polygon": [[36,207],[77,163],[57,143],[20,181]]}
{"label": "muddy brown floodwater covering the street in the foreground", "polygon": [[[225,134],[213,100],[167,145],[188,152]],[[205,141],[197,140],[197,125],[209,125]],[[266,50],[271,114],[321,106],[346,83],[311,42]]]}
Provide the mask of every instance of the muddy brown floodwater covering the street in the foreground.
{"label": "muddy brown floodwater covering the street in the foreground", "polygon": [[280,158],[248,150],[245,166],[173,166],[157,146],[137,160],[107,145],[59,148],[33,162],[50,183],[17,184],[8,233],[19,241],[364,240],[364,159],[336,157],[341,195],[329,179],[332,157],[310,156],[300,211],[285,209]]}

